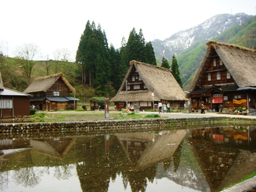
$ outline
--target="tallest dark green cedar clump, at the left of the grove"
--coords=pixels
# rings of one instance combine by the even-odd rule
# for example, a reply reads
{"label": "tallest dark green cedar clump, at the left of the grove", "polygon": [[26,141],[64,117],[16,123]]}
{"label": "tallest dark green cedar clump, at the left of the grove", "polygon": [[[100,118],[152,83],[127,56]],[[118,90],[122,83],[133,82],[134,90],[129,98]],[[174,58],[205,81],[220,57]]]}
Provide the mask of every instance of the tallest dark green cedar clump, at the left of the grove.
{"label": "tallest dark green cedar clump, at the left of the grove", "polygon": [[83,32],[76,61],[83,65],[83,82],[97,89],[101,96],[105,93],[107,83],[110,82],[109,49],[105,32],[101,26],[96,29],[95,23],[87,22]]}

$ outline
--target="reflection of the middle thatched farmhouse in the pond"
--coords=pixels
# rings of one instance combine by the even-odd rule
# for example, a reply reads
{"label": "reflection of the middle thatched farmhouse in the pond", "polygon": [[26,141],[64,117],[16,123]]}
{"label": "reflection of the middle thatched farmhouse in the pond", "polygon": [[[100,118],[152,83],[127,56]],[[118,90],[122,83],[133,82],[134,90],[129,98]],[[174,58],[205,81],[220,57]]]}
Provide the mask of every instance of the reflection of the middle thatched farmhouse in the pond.
{"label": "reflection of the middle thatched farmhouse in the pond", "polygon": [[116,134],[116,136],[131,163],[131,170],[138,171],[170,160],[185,134],[186,130],[170,130],[151,134]]}

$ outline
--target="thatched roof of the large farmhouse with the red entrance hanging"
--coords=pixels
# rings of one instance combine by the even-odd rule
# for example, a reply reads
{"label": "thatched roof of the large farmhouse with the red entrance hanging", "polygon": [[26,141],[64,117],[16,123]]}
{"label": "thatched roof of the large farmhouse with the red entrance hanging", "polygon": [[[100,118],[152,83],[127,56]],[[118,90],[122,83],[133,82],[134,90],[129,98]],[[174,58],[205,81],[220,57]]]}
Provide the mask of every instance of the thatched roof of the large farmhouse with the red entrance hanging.
{"label": "thatched roof of the large farmhouse with the red entrance hanging", "polygon": [[215,49],[219,58],[221,58],[239,87],[256,86],[256,50],[216,41],[209,41],[206,45],[208,46],[208,49],[205,58],[203,58],[201,66],[199,67],[189,90],[195,89],[212,49]]}

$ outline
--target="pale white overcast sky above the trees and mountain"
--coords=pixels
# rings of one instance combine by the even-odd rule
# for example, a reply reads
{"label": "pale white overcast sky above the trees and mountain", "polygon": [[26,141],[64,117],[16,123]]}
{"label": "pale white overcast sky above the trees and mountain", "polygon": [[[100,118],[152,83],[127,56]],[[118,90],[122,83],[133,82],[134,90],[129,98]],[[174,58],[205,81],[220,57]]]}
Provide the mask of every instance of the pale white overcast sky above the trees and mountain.
{"label": "pale white overcast sky above the trees and mountain", "polygon": [[[0,49],[14,56],[17,46],[35,43],[42,55],[71,51],[73,61],[87,21],[101,24],[117,49],[135,27],[146,41],[166,39],[217,14],[255,15],[255,0],[0,0]],[[8,49],[7,49],[8,48]],[[43,58],[42,58],[43,59]]]}

